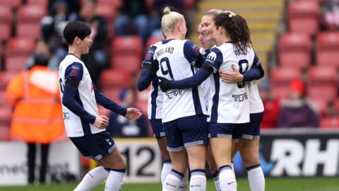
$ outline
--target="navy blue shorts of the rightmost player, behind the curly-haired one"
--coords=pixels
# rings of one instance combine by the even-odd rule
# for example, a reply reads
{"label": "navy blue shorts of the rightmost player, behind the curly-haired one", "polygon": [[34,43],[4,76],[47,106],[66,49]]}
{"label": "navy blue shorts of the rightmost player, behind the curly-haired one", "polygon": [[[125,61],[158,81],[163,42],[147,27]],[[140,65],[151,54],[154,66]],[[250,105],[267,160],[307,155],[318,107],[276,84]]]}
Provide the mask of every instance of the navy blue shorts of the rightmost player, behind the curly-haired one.
{"label": "navy blue shorts of the rightmost player, behind the curly-haired one", "polygon": [[263,112],[251,113],[249,115],[249,122],[244,123],[241,131],[233,134],[233,141],[238,141],[240,138],[260,139],[260,124],[262,120]]}

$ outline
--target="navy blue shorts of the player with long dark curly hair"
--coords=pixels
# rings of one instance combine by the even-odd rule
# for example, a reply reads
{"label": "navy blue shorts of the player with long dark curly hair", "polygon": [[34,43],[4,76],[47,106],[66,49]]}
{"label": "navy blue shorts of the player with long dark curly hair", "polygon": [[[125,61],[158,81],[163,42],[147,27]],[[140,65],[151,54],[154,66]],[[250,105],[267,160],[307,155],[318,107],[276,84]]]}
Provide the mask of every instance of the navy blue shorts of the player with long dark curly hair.
{"label": "navy blue shorts of the player with long dark curly hair", "polygon": [[215,123],[210,122],[208,137],[222,137],[232,139],[234,134],[239,134],[240,129],[242,129],[243,123]]}

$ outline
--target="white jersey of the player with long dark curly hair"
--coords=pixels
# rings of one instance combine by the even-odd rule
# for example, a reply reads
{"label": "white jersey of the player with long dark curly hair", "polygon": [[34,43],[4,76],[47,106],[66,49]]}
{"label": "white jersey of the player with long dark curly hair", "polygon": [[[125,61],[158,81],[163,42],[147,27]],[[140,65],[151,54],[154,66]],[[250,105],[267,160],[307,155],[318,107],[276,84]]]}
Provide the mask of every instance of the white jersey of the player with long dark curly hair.
{"label": "white jersey of the player with long dark curly hair", "polygon": [[[246,123],[249,122],[249,86],[245,83],[225,83],[219,71],[233,71],[235,64],[240,73],[248,71],[254,62],[254,50],[248,48],[243,54],[230,42],[213,47],[204,63],[214,69],[210,78],[210,98],[208,103],[208,122]],[[214,86],[213,86],[214,84]]]}

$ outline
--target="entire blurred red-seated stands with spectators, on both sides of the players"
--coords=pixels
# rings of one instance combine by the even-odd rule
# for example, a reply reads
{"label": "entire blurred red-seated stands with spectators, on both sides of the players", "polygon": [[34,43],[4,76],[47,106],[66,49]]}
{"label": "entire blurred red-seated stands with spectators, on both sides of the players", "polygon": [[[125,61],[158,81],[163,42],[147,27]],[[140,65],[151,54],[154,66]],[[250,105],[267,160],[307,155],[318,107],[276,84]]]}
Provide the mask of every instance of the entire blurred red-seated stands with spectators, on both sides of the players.
{"label": "entire blurred red-seated stands with spectators, on both sides of the players", "polygon": [[[69,21],[83,21],[92,29],[93,45],[90,54],[82,59],[88,63],[95,86],[119,103],[122,89],[135,89],[144,51],[162,38],[162,8],[174,6],[185,14],[188,9],[196,8],[196,3],[188,0],[1,1],[0,93],[4,94],[11,76],[34,66],[36,54],[47,54],[49,68],[57,70],[67,52],[62,39],[64,26]],[[267,63],[269,72],[259,85],[265,105],[262,128],[338,127],[339,1],[290,0],[285,10],[286,30],[278,36],[277,64]],[[133,94],[136,97],[133,105],[146,113],[147,93]],[[0,129],[6,131],[11,121],[11,106],[0,100]],[[100,108],[100,112],[107,111]],[[0,135],[0,139],[8,138]]]}

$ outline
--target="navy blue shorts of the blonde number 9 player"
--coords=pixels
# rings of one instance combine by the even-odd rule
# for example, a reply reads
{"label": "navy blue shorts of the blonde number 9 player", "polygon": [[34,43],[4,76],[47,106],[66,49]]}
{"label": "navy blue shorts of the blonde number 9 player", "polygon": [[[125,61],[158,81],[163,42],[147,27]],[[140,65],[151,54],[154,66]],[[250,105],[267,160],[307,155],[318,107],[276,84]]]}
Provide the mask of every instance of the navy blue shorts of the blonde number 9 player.
{"label": "navy blue shorts of the blonde number 9 player", "polygon": [[208,144],[206,115],[181,117],[165,122],[168,151],[182,151],[184,147]]}

